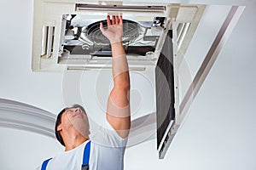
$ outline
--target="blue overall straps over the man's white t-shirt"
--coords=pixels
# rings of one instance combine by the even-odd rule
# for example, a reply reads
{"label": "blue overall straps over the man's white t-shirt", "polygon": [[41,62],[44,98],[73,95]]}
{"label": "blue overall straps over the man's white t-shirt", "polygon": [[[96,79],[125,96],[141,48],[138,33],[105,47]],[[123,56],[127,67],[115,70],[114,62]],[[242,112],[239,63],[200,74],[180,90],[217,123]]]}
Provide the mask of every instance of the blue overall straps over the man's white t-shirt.
{"label": "blue overall straps over the man's white t-shirt", "polygon": [[[90,158],[90,141],[85,145],[84,147],[84,157],[83,157],[83,164],[82,164],[82,170],[88,170],[89,169],[89,158]],[[47,164],[49,160],[52,158],[49,158],[48,160],[45,160],[42,164],[41,170],[46,170]]]}

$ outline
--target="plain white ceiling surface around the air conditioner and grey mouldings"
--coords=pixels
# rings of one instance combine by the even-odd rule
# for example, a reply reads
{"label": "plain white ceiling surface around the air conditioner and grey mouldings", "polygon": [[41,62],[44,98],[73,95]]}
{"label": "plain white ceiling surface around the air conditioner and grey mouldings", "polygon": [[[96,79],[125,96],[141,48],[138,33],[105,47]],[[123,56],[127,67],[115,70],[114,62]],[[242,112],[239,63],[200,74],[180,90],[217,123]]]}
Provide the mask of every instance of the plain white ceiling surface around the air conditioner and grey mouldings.
{"label": "plain white ceiling surface around the air conditioner and grey mouldings", "polygon": [[[247,7],[191,105],[166,158],[158,160],[156,142],[151,138],[126,150],[125,169],[255,170],[256,1],[172,2],[211,4],[185,56],[191,77],[206,56],[230,5]],[[64,105],[83,103],[91,119],[99,119],[100,123],[112,86],[111,73],[32,72],[32,3],[32,0],[0,2],[0,98],[53,114]],[[189,85],[189,81],[182,83],[183,89]],[[96,94],[91,89],[96,89]],[[133,119],[155,111],[154,68],[145,74],[131,72],[131,90],[131,99],[135,100]],[[55,139],[38,133],[0,127],[0,134],[0,169],[34,169],[46,157],[63,150]]]}

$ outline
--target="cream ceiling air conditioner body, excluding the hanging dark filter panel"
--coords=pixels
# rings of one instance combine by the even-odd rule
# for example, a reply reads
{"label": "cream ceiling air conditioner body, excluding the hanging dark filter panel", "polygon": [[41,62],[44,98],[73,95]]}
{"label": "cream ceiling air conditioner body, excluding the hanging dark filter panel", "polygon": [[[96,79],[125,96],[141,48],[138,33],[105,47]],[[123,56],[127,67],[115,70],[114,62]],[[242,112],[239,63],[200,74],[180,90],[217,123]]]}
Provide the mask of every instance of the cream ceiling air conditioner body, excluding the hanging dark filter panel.
{"label": "cream ceiling air conditioner body, excluding the hanging dark filter panel", "polygon": [[130,70],[145,71],[148,65],[156,65],[166,34],[173,28],[177,51],[185,54],[204,8],[171,3],[36,0],[32,70],[111,68],[110,44],[99,25],[102,22],[107,27],[108,14],[122,14],[122,42]]}

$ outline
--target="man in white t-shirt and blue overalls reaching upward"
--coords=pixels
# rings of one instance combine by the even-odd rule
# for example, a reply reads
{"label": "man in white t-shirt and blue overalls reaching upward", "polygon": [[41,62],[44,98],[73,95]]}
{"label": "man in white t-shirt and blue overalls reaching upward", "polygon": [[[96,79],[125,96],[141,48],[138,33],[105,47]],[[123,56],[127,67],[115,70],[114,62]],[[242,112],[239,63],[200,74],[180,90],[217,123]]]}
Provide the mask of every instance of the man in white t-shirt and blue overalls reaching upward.
{"label": "man in white t-shirt and blue overalls reaching upward", "polygon": [[[63,109],[55,124],[56,138],[65,146],[65,152],[44,161],[38,169],[121,170],[124,164],[125,144],[131,127],[130,77],[125,50],[122,45],[122,16],[107,16],[108,29],[100,29],[111,43],[113,55],[113,89],[108,96],[106,125],[90,138],[88,117],[84,108],[73,105]],[[89,148],[89,152],[87,149]],[[87,150],[87,152],[86,152]],[[88,154],[89,153],[89,154]],[[85,155],[89,161],[84,164]],[[82,166],[82,164],[84,164]],[[88,166],[89,164],[89,166]]]}

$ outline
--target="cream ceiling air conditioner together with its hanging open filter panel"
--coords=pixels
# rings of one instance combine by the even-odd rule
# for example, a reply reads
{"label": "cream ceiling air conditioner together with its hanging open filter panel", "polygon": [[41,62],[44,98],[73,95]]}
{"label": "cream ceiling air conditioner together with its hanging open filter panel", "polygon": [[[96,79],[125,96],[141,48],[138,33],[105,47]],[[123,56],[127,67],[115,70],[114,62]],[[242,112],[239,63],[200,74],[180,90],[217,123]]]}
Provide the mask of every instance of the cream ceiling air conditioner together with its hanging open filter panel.
{"label": "cream ceiling air conditioner together with its hanging open filter panel", "polygon": [[181,123],[178,65],[205,8],[177,3],[35,0],[32,70],[111,69],[110,44],[99,25],[102,22],[107,27],[107,14],[122,14],[122,42],[130,71],[155,68],[157,150],[163,158]]}

